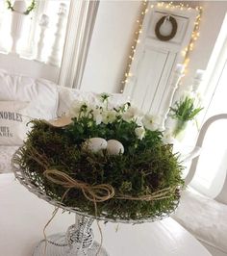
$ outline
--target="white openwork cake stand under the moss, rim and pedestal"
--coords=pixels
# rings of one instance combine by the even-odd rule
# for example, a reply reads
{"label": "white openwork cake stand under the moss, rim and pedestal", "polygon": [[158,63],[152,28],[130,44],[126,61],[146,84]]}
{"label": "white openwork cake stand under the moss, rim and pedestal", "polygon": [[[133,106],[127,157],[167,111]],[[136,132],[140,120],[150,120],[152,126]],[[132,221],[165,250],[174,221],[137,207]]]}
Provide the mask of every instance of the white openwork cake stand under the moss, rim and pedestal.
{"label": "white openwork cake stand under the moss, rim and pedestal", "polygon": [[[36,246],[33,256],[108,256],[108,252],[100,243],[94,241],[94,235],[91,229],[93,220],[104,220],[105,222],[121,222],[121,223],[144,223],[163,219],[168,217],[173,211],[165,212],[162,216],[142,219],[118,219],[106,218],[105,216],[94,217],[83,213],[78,208],[67,207],[60,201],[54,200],[48,196],[44,190],[40,190],[34,185],[28,176],[16,163],[16,152],[12,159],[12,167],[15,178],[30,192],[36,194],[39,198],[47,201],[57,208],[61,208],[66,212],[75,213],[75,224],[69,226],[65,234],[55,234],[48,236],[46,240],[42,240]],[[176,200],[174,209],[177,208],[179,200]]]}

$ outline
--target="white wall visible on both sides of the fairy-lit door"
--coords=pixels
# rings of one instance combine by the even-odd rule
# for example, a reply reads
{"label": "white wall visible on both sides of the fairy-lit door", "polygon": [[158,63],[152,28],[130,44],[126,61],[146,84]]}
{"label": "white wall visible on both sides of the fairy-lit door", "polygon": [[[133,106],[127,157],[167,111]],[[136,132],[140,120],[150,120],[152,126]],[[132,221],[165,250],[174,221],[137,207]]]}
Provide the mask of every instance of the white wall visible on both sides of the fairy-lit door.
{"label": "white wall visible on both sides of the fairy-lit door", "polygon": [[[186,4],[204,8],[200,37],[189,54],[188,73],[182,81],[189,85],[196,69],[207,68],[227,1],[187,1]],[[140,6],[139,1],[100,1],[82,90],[119,92]]]}

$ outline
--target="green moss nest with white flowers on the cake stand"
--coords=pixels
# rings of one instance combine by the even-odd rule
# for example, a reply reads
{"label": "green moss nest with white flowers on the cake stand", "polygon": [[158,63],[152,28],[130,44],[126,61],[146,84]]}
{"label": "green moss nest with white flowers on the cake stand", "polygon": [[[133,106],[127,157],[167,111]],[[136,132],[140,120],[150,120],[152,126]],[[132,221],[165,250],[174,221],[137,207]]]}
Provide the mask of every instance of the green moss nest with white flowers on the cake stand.
{"label": "green moss nest with white flowers on the cake stand", "polygon": [[[33,120],[33,129],[17,155],[21,171],[40,191],[90,215],[142,219],[171,213],[179,200],[179,188],[184,184],[178,155],[172,153],[171,144],[164,143],[161,131],[151,126],[146,128],[148,115],[146,120],[144,116],[129,115],[133,113],[129,104],[110,111],[105,103],[107,98],[102,97],[101,107],[91,108],[84,103],[74,106],[72,122],[63,127]],[[84,146],[89,138],[120,141],[124,153],[113,155],[107,149],[92,152]],[[111,185],[114,196],[97,202],[95,212],[94,202],[81,190],[72,188],[63,197],[65,187],[43,175],[45,168],[58,169],[91,186]],[[164,190],[167,193],[161,198],[142,199]]]}

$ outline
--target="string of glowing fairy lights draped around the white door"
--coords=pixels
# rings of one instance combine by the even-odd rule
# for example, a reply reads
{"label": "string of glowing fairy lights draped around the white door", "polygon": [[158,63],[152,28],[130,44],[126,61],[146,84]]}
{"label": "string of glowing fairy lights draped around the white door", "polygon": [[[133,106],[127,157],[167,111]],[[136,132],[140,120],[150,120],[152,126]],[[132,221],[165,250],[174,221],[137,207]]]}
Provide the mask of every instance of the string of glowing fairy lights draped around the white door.
{"label": "string of glowing fairy lights draped around the white door", "polygon": [[[130,72],[131,69],[131,65],[132,62],[134,60],[134,56],[136,53],[136,47],[137,44],[139,44],[140,39],[139,37],[141,37],[142,34],[142,22],[144,19],[144,16],[146,13],[149,12],[149,10],[154,9],[155,7],[158,7],[160,9],[164,9],[164,10],[174,10],[174,11],[188,11],[190,12],[192,9],[191,7],[189,7],[189,4],[185,5],[183,3],[179,3],[177,5],[175,5],[175,3],[173,4],[173,2],[169,2],[169,3],[164,3],[164,2],[159,2],[156,5],[150,5],[150,7],[148,7],[148,1],[144,0],[141,4],[141,10],[140,10],[140,14],[139,14],[139,18],[137,19],[137,29],[135,32],[135,38],[134,38],[134,44],[131,46],[131,51],[129,53],[129,58],[128,58],[128,64],[124,73],[124,78],[121,81],[122,84],[122,90],[120,90],[120,92],[122,93],[125,86],[127,85],[127,83],[129,83],[130,81],[130,77],[133,76],[133,73]],[[194,48],[194,42],[197,40],[197,38],[199,37],[199,28],[200,28],[200,21],[201,21],[201,15],[202,15],[202,7],[196,7],[195,8],[196,11],[198,11],[198,15],[196,16],[196,20],[194,22],[194,29],[191,35],[191,38],[189,40],[189,46],[186,47],[185,49],[183,49],[181,51],[182,56],[184,57],[184,65],[185,65],[185,73],[188,72],[188,70],[186,70],[186,67],[189,64],[189,52],[191,52]]]}

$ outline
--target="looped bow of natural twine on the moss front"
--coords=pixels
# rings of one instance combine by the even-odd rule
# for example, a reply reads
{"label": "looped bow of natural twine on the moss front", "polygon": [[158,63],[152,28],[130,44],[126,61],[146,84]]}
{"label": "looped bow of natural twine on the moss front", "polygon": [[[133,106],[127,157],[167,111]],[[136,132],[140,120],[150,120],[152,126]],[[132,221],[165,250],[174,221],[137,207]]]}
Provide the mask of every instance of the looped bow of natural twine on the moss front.
{"label": "looped bow of natural twine on the moss front", "polygon": [[65,189],[80,189],[92,202],[104,202],[114,196],[114,188],[110,184],[89,185],[78,181],[58,169],[46,169],[43,173],[49,181],[63,186]]}

